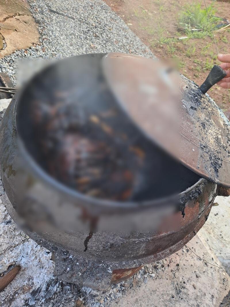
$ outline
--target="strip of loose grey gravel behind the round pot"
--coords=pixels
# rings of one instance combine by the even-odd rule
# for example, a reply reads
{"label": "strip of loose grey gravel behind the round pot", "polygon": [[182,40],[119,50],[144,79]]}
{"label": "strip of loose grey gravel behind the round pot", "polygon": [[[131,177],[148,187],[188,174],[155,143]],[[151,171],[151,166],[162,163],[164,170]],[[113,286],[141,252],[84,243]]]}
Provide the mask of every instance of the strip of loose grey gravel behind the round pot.
{"label": "strip of loose grey gravel behind the round pot", "polygon": [[85,53],[125,52],[153,54],[102,0],[29,0],[39,24],[40,45],[13,52],[0,60],[16,84],[16,63],[21,58],[61,58]]}

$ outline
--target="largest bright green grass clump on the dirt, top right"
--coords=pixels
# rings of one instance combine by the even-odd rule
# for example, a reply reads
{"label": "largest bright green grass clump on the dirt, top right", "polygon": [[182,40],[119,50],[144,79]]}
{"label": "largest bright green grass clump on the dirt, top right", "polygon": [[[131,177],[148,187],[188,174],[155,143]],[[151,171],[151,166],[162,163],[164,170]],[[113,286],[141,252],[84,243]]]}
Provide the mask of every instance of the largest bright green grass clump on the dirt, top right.
{"label": "largest bright green grass clump on the dirt, top right", "polygon": [[[213,4],[207,7],[207,11],[211,24],[214,25],[220,20],[219,17],[215,17],[216,10]],[[211,26],[207,11],[205,8],[201,8],[201,3],[186,5],[185,10],[179,14],[178,28],[183,29],[190,38],[211,36]],[[193,29],[198,29],[199,31],[193,31]]]}

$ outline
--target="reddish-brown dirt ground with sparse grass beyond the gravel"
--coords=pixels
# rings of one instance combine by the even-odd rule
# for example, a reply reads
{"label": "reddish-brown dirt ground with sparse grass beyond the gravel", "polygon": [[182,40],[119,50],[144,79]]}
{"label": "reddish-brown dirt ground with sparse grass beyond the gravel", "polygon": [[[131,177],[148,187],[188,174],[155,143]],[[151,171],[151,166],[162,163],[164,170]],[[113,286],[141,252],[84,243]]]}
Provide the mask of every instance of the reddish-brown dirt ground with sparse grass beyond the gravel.
{"label": "reddish-brown dirt ground with sparse grass beyond the gravel", "polygon": [[[179,40],[178,16],[187,4],[201,3],[203,0],[105,0],[132,29],[140,39],[161,59],[174,60],[179,71],[201,85],[214,64],[217,48],[213,37]],[[213,2],[206,0],[206,5],[213,3],[216,16],[230,20],[230,1]],[[214,32],[219,53],[230,53],[230,27],[225,31]],[[175,38],[174,41],[168,38]],[[230,116],[230,97],[228,91],[218,86],[209,90],[225,115]]]}

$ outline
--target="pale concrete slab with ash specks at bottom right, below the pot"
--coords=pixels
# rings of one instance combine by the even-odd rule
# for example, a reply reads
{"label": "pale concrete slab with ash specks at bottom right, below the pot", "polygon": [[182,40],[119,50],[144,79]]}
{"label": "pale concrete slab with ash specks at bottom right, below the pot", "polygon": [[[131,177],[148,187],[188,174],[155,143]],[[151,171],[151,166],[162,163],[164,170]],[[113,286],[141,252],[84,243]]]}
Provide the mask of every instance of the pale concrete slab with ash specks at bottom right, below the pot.
{"label": "pale concrete slab with ash specks at bottom right, below the pot", "polygon": [[128,289],[111,306],[219,307],[230,289],[228,274],[199,234],[163,262],[165,270]]}

